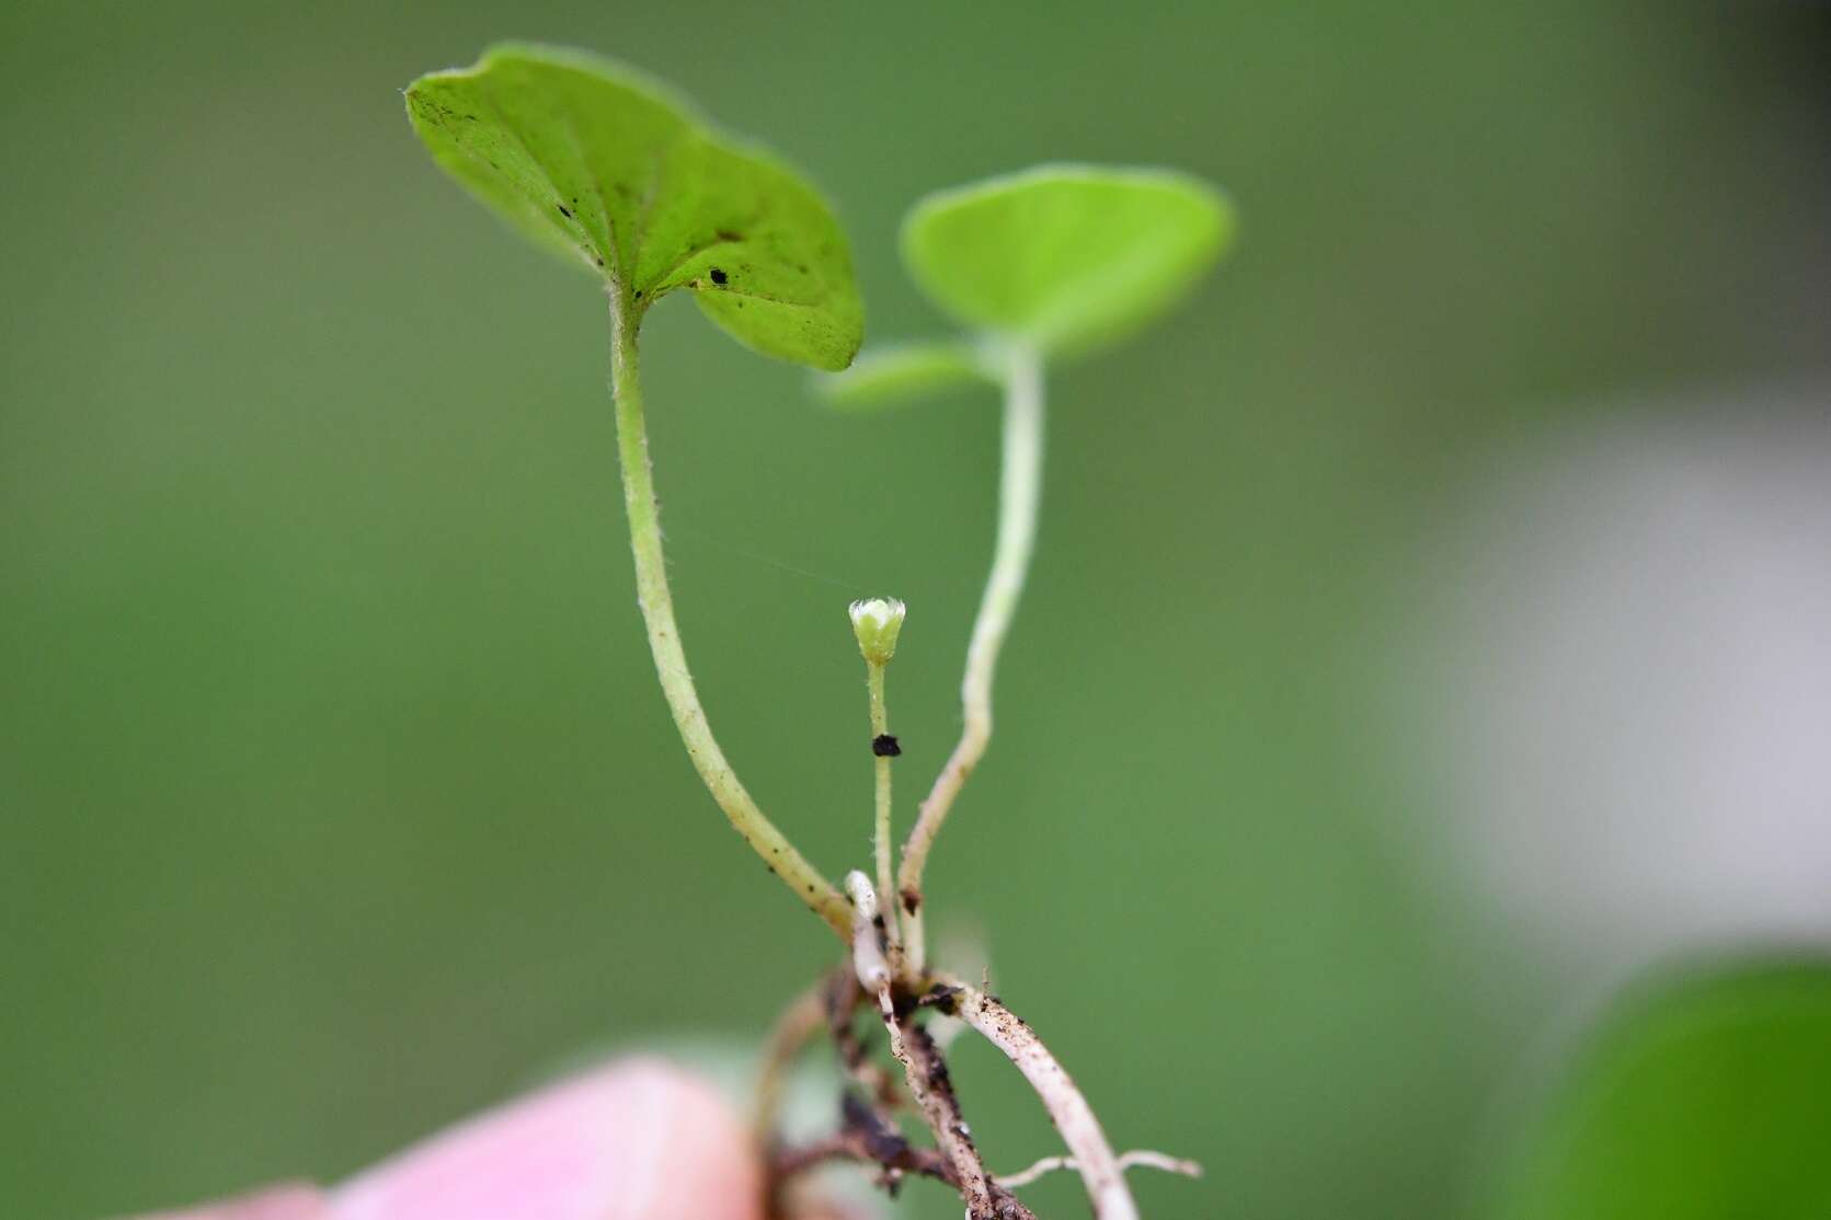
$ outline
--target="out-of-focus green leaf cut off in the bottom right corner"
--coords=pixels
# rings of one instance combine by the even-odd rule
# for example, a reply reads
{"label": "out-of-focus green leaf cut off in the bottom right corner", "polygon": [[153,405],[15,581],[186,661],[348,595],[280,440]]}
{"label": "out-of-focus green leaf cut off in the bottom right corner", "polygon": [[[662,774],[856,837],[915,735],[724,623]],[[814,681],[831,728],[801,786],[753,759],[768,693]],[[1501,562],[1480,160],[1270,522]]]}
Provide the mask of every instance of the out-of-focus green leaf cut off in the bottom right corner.
{"label": "out-of-focus green leaf cut off in the bottom right corner", "polygon": [[1505,1220],[1831,1215],[1831,966],[1745,968],[1630,1004],[1514,1169]]}

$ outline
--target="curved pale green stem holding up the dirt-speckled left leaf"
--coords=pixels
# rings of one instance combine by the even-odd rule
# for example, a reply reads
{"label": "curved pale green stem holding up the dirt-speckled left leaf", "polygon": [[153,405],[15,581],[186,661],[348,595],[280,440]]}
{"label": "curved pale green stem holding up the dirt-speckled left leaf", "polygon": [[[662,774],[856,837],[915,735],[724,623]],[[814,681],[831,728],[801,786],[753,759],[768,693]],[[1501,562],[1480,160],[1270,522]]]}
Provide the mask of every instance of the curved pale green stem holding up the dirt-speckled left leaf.
{"label": "curved pale green stem holding up the dirt-speckled left leaf", "polygon": [[681,633],[674,622],[674,598],[668,593],[666,558],[661,551],[661,503],[655,499],[654,468],[648,461],[648,430],[643,423],[643,384],[635,359],[635,320],[621,289],[610,298],[610,384],[617,401],[617,459],[623,466],[623,507],[630,519],[630,551],[635,552],[635,600],[648,626],[648,651],[655,657],[655,675],[661,693],[668,699],[674,726],[679,730],[687,754],[699,779],[725,818],[743,836],[769,871],[795,891],[815,915],[824,918],[840,936],[851,933],[851,915],[833,883],[820,876],[795,851],[751,794],[738,783],[736,772],[718,748],[712,728],[699,706],[687,655],[681,651]]}

